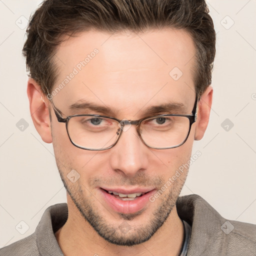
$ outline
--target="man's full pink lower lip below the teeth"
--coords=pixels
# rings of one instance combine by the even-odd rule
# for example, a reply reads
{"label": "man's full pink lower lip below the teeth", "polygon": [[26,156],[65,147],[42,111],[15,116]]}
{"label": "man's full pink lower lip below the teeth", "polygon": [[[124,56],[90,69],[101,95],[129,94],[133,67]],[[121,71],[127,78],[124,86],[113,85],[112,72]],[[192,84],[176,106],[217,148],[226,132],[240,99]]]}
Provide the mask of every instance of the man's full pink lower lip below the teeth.
{"label": "man's full pink lower lip below the teeth", "polygon": [[155,189],[136,197],[134,200],[122,200],[111,195],[104,189],[99,189],[107,202],[107,204],[114,210],[120,213],[135,213],[145,207],[149,202],[149,197],[155,192]]}

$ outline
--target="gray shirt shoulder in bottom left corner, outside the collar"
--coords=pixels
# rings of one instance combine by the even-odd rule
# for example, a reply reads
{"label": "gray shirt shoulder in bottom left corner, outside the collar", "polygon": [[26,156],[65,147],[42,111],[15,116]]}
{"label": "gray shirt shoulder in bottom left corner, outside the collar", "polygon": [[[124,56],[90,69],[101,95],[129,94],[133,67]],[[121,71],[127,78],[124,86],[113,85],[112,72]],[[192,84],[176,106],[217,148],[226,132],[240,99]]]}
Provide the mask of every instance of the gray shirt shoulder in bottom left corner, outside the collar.
{"label": "gray shirt shoulder in bottom left corner, outside the collar", "polygon": [[12,244],[0,248],[1,256],[25,256],[25,255],[33,255],[39,256],[39,252],[36,245],[36,236],[33,234],[13,242]]}

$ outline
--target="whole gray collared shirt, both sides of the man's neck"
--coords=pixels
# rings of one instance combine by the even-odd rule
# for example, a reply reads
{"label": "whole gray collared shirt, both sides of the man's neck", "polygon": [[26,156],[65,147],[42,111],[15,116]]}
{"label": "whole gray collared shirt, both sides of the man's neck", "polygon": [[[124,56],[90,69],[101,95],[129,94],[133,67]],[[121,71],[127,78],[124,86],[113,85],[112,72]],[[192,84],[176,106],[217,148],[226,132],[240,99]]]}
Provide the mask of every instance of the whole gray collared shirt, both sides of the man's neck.
{"label": "whole gray collared shirt, both sides of the man's neck", "polygon": [[[191,226],[186,256],[256,255],[256,225],[224,219],[196,194],[178,197],[176,207],[179,217]],[[48,207],[35,232],[1,248],[0,256],[63,256],[54,233],[67,213],[66,203]]]}

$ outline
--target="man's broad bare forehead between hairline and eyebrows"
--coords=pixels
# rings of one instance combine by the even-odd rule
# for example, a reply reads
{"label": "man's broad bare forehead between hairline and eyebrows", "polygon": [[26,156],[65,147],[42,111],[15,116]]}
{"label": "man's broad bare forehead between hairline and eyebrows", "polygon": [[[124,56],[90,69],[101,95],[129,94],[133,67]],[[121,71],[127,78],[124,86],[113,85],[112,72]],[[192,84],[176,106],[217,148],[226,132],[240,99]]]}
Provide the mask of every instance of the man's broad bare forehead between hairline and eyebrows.
{"label": "man's broad bare forehead between hairline and eyebrows", "polygon": [[[53,101],[67,106],[86,99],[134,114],[150,105],[193,105],[195,48],[181,29],[143,33],[90,30],[62,42]],[[60,86],[62,84],[62,86]]]}

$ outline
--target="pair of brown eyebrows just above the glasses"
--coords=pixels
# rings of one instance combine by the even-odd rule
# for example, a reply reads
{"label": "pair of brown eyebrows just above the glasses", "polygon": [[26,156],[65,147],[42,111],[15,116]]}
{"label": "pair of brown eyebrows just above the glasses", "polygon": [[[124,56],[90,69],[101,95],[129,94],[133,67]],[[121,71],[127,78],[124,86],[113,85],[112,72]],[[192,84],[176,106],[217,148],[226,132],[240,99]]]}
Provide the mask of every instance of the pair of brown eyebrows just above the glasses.
{"label": "pair of brown eyebrows just above the glasses", "polygon": [[[118,108],[110,108],[106,105],[96,105],[83,99],[80,99],[77,102],[71,104],[68,108],[71,111],[71,114],[75,114],[77,113],[77,111],[82,110],[91,111],[96,114],[103,114],[112,117],[114,117],[120,110]],[[141,110],[139,110],[139,112],[141,112]],[[143,110],[144,116],[157,115],[160,113],[185,114],[186,107],[181,102],[168,102],[160,105],[152,105]]]}

